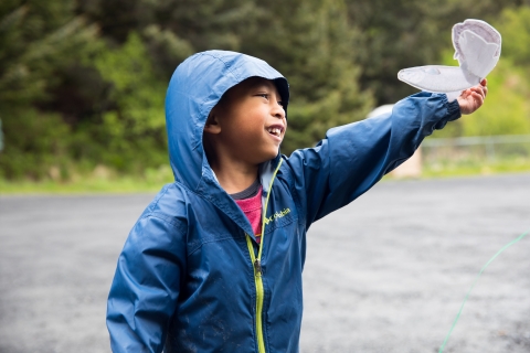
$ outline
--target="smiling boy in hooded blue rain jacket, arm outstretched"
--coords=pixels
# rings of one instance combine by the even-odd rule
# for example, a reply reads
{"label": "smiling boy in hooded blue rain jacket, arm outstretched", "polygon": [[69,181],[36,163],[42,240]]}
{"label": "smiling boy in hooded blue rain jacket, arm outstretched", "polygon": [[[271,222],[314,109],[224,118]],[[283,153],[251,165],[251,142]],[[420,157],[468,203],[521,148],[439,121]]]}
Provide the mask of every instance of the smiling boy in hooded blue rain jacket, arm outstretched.
{"label": "smiling boy in hooded blue rain jacket, arm outstretched", "polygon": [[297,352],[311,223],[364,193],[433,129],[475,111],[485,86],[452,103],[420,93],[287,158],[287,81],[239,53],[189,57],[166,99],[176,182],[118,259],[107,307],[113,351]]}

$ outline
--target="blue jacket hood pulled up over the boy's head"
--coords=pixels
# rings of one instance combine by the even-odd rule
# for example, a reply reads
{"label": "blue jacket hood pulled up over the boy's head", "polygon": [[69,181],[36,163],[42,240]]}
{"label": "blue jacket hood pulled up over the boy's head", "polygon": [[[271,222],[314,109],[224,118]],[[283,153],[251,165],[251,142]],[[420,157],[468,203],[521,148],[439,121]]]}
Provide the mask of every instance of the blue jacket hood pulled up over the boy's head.
{"label": "blue jacket hood pulled up over the boy's head", "polygon": [[188,57],[177,67],[166,96],[169,157],[176,181],[197,191],[204,179],[215,180],[202,145],[204,124],[227,89],[253,76],[274,81],[287,114],[287,81],[263,60],[208,51]]}

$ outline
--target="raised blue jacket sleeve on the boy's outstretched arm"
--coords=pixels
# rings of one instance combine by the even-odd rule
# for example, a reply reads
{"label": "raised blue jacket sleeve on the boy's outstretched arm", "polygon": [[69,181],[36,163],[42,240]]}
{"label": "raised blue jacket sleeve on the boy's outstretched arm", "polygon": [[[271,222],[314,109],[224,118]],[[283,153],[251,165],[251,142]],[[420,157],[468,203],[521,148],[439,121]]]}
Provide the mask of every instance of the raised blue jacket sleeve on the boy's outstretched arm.
{"label": "raised blue jacket sleeve on the boy's outstretched arm", "polygon": [[285,162],[306,228],[359,197],[426,136],[459,117],[456,100],[422,92],[396,103],[391,114],[332,128],[315,148],[295,151]]}

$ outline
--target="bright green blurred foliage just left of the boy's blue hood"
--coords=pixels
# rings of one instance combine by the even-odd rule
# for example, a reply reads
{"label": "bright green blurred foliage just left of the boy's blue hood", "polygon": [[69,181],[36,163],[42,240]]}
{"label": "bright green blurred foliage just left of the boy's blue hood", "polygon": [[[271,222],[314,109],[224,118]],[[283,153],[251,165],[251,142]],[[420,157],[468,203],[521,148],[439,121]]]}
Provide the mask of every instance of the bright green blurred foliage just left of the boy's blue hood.
{"label": "bright green blurred foliage just left of the boy's blue hood", "polygon": [[131,32],[119,49],[99,52],[94,66],[108,85],[109,108],[102,111],[100,124],[88,128],[93,143],[105,148],[99,162],[121,171],[166,162],[166,85],[155,75],[139,35]]}

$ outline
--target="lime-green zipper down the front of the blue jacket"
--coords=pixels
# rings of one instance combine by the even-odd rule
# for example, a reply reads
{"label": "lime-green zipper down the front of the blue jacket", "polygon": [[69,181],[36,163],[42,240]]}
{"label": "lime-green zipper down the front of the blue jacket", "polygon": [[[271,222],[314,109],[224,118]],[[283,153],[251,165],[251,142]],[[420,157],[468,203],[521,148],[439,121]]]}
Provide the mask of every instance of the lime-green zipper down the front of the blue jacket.
{"label": "lime-green zipper down the front of the blue jacket", "polygon": [[261,246],[257,253],[257,257],[254,254],[254,246],[252,245],[252,238],[248,234],[246,234],[246,245],[248,247],[248,253],[251,254],[252,266],[254,268],[254,282],[256,286],[256,335],[257,335],[257,351],[258,353],[266,353],[265,351],[265,341],[263,339],[263,299],[265,297],[265,291],[263,289],[263,278],[262,278],[262,249],[263,249],[263,242],[265,239],[265,215],[267,214],[267,206],[268,206],[268,197],[271,196],[271,192],[273,190],[273,183],[276,179],[276,173],[279,170],[279,165],[282,165],[282,159],[279,160],[278,167],[274,171],[273,179],[271,180],[271,185],[268,189],[267,197],[265,200],[265,206],[262,213],[262,238],[261,238]]}

